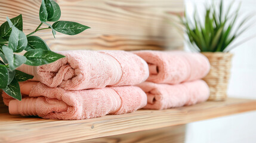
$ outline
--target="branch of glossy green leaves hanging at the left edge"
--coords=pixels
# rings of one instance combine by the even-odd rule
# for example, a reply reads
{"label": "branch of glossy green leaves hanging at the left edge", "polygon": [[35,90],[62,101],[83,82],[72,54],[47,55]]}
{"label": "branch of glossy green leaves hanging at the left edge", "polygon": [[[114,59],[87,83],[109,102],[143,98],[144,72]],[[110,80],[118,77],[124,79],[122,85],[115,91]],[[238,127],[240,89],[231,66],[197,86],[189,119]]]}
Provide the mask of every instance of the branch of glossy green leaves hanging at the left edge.
{"label": "branch of glossy green leaves hanging at the left edge", "polygon": [[[41,66],[52,63],[63,55],[50,50],[43,39],[31,36],[39,30],[51,29],[55,38],[56,31],[66,35],[76,35],[90,27],[72,21],[58,21],[61,11],[53,0],[42,0],[39,10],[41,23],[35,31],[25,35],[23,33],[22,15],[9,19],[0,26],[0,89],[17,100],[21,100],[20,86],[18,82],[32,79],[33,76],[16,70],[21,64]],[[53,25],[47,23],[54,22]],[[42,28],[46,24],[47,28]],[[27,51],[24,55],[14,53]]]}

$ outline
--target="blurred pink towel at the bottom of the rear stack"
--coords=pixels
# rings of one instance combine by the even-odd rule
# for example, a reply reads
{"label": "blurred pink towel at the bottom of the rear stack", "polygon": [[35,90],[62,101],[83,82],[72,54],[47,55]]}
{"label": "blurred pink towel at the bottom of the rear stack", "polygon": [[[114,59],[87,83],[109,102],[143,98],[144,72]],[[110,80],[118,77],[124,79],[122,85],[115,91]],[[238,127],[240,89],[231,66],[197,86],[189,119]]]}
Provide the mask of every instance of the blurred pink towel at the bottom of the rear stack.
{"label": "blurred pink towel at the bottom of the rear stack", "polygon": [[209,87],[203,80],[195,80],[178,85],[144,82],[138,87],[147,94],[145,109],[162,110],[183,105],[193,105],[206,101],[209,97]]}

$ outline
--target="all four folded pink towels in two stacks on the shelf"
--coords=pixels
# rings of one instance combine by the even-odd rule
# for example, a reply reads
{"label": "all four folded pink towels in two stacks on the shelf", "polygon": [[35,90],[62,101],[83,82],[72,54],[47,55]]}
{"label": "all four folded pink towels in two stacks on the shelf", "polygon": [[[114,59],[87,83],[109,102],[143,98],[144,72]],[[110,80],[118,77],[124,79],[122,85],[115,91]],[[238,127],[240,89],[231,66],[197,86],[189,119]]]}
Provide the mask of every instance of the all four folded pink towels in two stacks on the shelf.
{"label": "all four folded pink towels in two stacks on the shelf", "polygon": [[2,94],[10,114],[46,119],[90,119],[131,113],[143,107],[161,110],[192,105],[209,97],[209,88],[201,79],[210,65],[202,54],[166,51],[59,53],[66,57],[43,66],[18,68],[34,78],[20,83],[22,101]]}

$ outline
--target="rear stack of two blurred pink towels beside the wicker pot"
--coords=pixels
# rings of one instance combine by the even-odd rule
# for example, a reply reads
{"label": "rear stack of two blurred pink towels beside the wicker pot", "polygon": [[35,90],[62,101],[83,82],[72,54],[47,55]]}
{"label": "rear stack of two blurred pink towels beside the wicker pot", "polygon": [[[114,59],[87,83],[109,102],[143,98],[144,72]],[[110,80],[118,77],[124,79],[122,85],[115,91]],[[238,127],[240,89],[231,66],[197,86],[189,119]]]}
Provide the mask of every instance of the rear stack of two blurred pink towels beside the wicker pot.
{"label": "rear stack of two blurred pink towels beside the wicker pot", "polygon": [[181,51],[134,51],[149,66],[147,82],[138,85],[147,94],[146,109],[162,110],[206,101],[209,87],[201,80],[208,74],[208,59]]}

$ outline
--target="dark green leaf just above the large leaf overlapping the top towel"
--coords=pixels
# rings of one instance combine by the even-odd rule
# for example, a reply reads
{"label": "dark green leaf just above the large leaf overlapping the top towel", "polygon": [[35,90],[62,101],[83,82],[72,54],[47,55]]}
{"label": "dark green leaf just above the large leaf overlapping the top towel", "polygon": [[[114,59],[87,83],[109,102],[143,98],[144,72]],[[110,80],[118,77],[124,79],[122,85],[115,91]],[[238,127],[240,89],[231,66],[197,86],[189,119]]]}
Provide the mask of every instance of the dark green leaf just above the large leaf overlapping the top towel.
{"label": "dark green leaf just above the large leaf overlapping the top towel", "polygon": [[29,36],[27,38],[27,47],[26,51],[30,49],[44,49],[51,51],[50,48],[47,46],[47,43],[44,42],[43,39],[39,38],[38,36]]}

